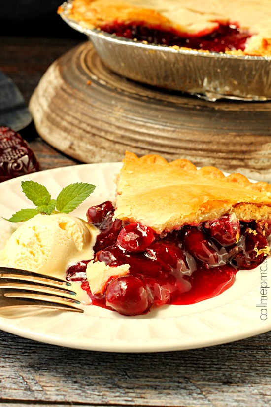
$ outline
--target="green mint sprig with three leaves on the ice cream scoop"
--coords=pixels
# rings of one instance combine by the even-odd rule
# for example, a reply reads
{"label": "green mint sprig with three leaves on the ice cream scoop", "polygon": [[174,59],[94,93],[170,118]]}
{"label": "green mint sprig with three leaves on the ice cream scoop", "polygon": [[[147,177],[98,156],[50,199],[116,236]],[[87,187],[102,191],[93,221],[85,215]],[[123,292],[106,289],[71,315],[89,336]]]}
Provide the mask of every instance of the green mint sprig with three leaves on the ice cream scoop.
{"label": "green mint sprig with three leaves on the ice cream scoop", "polygon": [[96,188],[95,185],[88,183],[70,184],[62,189],[57,199],[51,199],[46,187],[35,181],[22,181],[21,186],[26,197],[34,203],[36,208],[21,209],[6,221],[25,222],[39,213],[51,215],[55,209],[68,214],[87,199]]}

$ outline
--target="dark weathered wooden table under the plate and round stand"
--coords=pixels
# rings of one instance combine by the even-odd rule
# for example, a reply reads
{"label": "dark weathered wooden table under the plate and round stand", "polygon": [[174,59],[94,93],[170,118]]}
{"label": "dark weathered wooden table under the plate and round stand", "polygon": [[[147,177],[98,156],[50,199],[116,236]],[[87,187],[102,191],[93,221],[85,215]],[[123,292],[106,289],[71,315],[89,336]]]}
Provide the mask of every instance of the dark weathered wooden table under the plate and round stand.
{"label": "dark weathered wooden table under the plate and round stand", "polygon": [[[47,67],[78,41],[2,37],[0,70],[29,101]],[[33,126],[21,134],[42,169],[78,162]],[[182,352],[117,354],[60,348],[0,331],[0,406],[271,405],[271,332]]]}

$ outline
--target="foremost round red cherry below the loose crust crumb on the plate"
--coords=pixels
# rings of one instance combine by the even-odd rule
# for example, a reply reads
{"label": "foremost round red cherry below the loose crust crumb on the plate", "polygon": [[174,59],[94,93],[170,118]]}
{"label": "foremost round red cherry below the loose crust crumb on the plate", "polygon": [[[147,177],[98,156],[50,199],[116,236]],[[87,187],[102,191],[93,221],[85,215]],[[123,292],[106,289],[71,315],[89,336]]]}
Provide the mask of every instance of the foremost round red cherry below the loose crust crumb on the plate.
{"label": "foremost round red cherry below the loose crust crumb on the plate", "polygon": [[106,305],[123,315],[139,315],[149,310],[152,297],[138,277],[118,277],[107,286]]}

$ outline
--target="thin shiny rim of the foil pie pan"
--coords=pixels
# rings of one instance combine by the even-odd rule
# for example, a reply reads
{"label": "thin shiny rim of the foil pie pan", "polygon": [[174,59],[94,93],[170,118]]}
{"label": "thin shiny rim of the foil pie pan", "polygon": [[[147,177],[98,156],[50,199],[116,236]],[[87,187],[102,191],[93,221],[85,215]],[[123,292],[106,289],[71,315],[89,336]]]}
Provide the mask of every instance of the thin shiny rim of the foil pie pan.
{"label": "thin shiny rim of the foil pie pan", "polygon": [[74,30],[79,31],[82,34],[85,34],[89,37],[100,37],[104,38],[105,40],[112,42],[126,45],[130,47],[136,48],[145,48],[147,50],[154,50],[154,51],[163,51],[169,52],[174,54],[183,54],[183,55],[195,55],[195,56],[202,56],[205,58],[216,58],[216,59],[234,59],[234,60],[245,60],[245,61],[267,61],[271,62],[271,56],[255,56],[255,55],[231,55],[226,54],[223,52],[210,52],[210,51],[199,51],[194,49],[187,49],[187,48],[173,48],[167,45],[155,45],[155,44],[145,44],[140,41],[134,41],[133,39],[118,37],[114,34],[106,33],[99,29],[91,29],[88,27],[82,26],[78,21],[69,17],[70,9],[72,7],[73,0],[68,0],[64,2],[61,7],[63,11],[59,13],[61,18]]}

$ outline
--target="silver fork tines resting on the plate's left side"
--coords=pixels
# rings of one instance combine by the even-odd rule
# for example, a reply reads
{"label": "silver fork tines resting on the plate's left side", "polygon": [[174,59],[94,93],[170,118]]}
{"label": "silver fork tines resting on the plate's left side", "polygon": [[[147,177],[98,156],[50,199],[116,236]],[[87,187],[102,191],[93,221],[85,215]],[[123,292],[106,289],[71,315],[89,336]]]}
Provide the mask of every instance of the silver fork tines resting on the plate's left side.
{"label": "silver fork tines resting on the plate's left side", "polygon": [[54,308],[84,312],[68,281],[17,268],[0,267],[0,309],[18,307]]}

